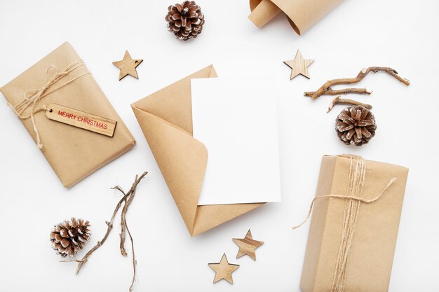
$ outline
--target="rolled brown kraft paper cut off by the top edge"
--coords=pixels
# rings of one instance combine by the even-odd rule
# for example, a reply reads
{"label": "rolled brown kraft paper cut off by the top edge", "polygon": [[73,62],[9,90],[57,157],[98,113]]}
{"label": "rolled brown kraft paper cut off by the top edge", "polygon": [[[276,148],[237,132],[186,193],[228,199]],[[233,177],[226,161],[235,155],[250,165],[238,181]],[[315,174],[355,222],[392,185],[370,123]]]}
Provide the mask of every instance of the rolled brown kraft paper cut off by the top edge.
{"label": "rolled brown kraft paper cut off by the top edge", "polygon": [[250,0],[248,18],[263,27],[276,15],[285,13],[297,34],[303,34],[343,0]]}

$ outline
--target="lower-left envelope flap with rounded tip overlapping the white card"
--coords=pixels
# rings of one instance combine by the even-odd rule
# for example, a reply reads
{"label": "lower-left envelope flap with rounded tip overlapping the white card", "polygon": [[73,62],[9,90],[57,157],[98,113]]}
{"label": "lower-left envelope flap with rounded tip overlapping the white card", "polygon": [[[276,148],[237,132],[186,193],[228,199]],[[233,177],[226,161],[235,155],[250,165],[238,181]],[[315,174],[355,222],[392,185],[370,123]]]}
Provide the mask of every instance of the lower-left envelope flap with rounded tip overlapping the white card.
{"label": "lower-left envelope flap with rounded tip overlapping the white card", "polygon": [[163,178],[192,233],[208,151],[190,133],[132,105]]}

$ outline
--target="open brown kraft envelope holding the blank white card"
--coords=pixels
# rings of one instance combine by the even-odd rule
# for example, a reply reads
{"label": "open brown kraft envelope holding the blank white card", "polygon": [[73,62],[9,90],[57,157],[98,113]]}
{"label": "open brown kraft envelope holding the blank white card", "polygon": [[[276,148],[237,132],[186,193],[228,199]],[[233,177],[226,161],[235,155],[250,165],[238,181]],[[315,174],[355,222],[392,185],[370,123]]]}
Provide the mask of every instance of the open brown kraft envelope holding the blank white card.
{"label": "open brown kraft envelope holding the blank white card", "polygon": [[198,206],[208,149],[192,137],[191,78],[212,77],[210,65],[131,104],[191,236],[264,204]]}

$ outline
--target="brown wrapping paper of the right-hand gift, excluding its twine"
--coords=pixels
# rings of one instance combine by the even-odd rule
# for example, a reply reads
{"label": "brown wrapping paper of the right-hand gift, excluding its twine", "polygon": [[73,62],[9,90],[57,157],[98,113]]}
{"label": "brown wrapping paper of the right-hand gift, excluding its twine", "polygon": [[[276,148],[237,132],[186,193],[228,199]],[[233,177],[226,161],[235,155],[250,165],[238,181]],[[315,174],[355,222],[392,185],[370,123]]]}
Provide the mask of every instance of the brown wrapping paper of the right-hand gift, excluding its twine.
{"label": "brown wrapping paper of the right-hand gift, excluding its twine", "polygon": [[[324,156],[316,197],[346,194],[349,166],[349,158]],[[405,167],[366,161],[363,190],[366,200],[377,196],[391,179],[396,178],[396,181],[379,200],[360,204],[344,291],[388,291],[407,173]],[[345,200],[340,198],[324,198],[315,202],[300,283],[303,292],[331,291],[344,206]]]}

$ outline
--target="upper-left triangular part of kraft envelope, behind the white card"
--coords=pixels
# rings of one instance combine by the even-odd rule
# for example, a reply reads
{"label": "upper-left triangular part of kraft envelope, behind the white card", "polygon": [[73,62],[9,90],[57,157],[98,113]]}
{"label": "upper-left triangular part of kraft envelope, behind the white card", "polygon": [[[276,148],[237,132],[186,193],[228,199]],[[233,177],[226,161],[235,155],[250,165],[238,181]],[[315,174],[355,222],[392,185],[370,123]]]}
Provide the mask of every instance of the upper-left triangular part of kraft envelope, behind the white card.
{"label": "upper-left triangular part of kraft envelope, behind the white card", "polygon": [[217,77],[213,65],[154,92],[133,106],[192,133],[191,79]]}

